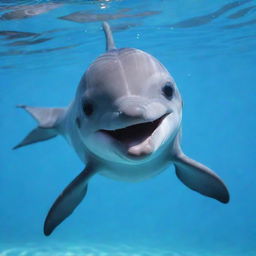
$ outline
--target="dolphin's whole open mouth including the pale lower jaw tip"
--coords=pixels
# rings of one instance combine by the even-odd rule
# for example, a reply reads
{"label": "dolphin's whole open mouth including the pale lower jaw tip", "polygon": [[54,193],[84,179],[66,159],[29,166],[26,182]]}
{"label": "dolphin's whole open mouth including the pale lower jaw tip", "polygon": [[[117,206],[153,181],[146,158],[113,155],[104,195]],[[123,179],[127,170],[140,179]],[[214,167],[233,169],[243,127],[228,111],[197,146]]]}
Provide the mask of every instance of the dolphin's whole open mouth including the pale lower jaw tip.
{"label": "dolphin's whole open mouth including the pale lower jaw tip", "polygon": [[153,152],[150,138],[167,115],[164,114],[154,121],[138,123],[116,130],[102,129],[99,132],[121,144],[129,156],[141,157],[149,155]]}

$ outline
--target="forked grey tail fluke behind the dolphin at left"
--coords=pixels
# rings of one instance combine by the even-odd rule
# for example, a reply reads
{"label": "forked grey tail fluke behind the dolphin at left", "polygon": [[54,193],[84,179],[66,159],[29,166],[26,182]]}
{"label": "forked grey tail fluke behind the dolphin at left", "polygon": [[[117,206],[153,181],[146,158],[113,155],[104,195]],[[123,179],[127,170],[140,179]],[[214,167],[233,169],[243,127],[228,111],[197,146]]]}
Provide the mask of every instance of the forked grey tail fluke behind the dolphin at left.
{"label": "forked grey tail fluke behind the dolphin at left", "polygon": [[18,105],[17,107],[25,109],[38,122],[38,126],[13,149],[48,140],[59,134],[58,128],[65,114],[65,108],[41,108],[25,105]]}

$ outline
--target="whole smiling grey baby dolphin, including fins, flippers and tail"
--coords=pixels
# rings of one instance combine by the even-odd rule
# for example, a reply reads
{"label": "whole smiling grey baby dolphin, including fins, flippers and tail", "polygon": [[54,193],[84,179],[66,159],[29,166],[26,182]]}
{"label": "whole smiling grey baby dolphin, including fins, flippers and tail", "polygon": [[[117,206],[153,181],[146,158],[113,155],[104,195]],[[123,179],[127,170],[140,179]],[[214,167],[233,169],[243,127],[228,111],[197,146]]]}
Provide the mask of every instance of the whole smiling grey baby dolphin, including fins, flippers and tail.
{"label": "whole smiling grey baby dolphin, including fins, flippers and tail", "polygon": [[187,187],[222,203],[229,201],[222,180],[181,150],[182,100],[172,76],[146,52],[117,49],[108,23],[103,23],[103,30],[107,51],[82,76],[68,107],[19,106],[38,127],[14,149],[60,134],[85,163],[51,207],[44,223],[46,236],[83,200],[96,173],[134,182],[174,164]]}

